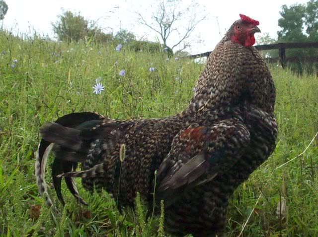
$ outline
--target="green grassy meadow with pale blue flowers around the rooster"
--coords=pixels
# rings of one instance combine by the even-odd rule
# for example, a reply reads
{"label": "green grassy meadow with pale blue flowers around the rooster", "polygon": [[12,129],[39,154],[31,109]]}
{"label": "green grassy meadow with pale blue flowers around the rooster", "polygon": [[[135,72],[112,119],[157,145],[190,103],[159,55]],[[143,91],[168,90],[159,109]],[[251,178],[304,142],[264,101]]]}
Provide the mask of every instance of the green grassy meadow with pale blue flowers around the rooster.
{"label": "green grassy meadow with pale blue flowers around the rooster", "polygon": [[[37,37],[23,41],[3,32],[1,51],[0,235],[163,236],[162,215],[145,222],[147,210],[138,198],[135,211],[119,213],[106,192],[90,195],[80,180],[79,192],[89,206],[76,204],[63,185],[67,206],[52,215],[35,184],[38,131],[45,121],[75,111],[96,111],[114,119],[173,115],[189,102],[204,64],[166,61],[163,53],[116,52],[90,42],[67,45]],[[13,59],[17,63],[11,68]],[[121,69],[126,71],[123,77]],[[276,169],[302,153],[318,132],[318,78],[297,76],[276,65],[270,69],[277,88],[277,148],[236,190],[226,236],[238,236],[250,214],[244,237],[318,236],[318,138],[302,156]],[[105,86],[100,95],[92,93],[97,77]],[[49,192],[58,205],[47,168]],[[280,196],[287,205],[283,218],[276,215]]]}

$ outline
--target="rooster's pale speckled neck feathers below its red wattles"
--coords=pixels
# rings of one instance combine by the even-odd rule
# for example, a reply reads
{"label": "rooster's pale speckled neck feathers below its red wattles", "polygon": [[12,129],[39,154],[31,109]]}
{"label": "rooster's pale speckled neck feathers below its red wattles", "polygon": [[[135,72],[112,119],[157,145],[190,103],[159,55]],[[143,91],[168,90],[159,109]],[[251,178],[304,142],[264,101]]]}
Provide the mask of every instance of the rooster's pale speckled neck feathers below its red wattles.
{"label": "rooster's pale speckled neck feathers below its red wattles", "polygon": [[275,87],[266,62],[255,49],[226,41],[221,41],[208,58],[195,94],[181,117],[245,105],[273,112]]}

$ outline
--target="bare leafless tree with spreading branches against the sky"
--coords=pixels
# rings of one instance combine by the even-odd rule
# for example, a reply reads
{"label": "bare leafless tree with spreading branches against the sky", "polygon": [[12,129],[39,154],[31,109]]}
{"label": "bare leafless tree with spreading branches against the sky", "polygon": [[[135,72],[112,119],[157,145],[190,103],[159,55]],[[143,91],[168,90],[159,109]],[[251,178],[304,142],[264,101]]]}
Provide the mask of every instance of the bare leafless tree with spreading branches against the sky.
{"label": "bare leafless tree with spreading branches against the sky", "polygon": [[152,17],[147,19],[144,14],[136,12],[139,22],[151,30],[155,31],[160,40],[162,40],[163,47],[168,47],[167,40],[172,35],[178,35],[177,42],[173,45],[170,43],[170,48],[173,50],[176,46],[183,43],[179,49],[182,51],[190,46],[190,42],[186,40],[190,37],[195,27],[206,19],[207,14],[204,9],[196,2],[182,7],[181,0],[160,0],[152,12]]}

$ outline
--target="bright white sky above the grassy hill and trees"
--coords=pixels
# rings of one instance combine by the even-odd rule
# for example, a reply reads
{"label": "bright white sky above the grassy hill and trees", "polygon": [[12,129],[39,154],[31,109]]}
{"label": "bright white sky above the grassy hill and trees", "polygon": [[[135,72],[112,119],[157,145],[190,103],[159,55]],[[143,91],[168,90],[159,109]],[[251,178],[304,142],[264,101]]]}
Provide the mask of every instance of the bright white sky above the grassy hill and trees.
{"label": "bright white sky above the grassy hill and trees", "polygon": [[[183,0],[189,2],[189,0]],[[201,22],[193,32],[193,38],[200,37],[204,43],[192,43],[191,54],[204,53],[213,50],[222,38],[225,29],[239,19],[239,13],[250,16],[260,22],[262,32],[268,32],[276,38],[279,11],[283,4],[306,3],[309,0],[197,0],[204,6],[209,14],[208,19]],[[137,23],[135,11],[150,14],[156,0],[5,0],[8,11],[3,20],[3,28],[14,33],[27,33],[29,26],[31,32],[37,32],[54,37],[51,22],[58,20],[57,15],[65,10],[80,12],[82,16],[91,20],[97,20],[105,32],[119,31],[121,22],[122,29],[128,29],[135,33],[137,38],[156,41],[156,34],[149,28]],[[119,6],[119,8],[116,8]],[[112,28],[112,29],[110,29]],[[256,36],[256,35],[255,35]],[[170,45],[177,40],[176,37],[168,40]],[[256,42],[257,44],[257,42]],[[175,48],[174,50],[177,50]]]}

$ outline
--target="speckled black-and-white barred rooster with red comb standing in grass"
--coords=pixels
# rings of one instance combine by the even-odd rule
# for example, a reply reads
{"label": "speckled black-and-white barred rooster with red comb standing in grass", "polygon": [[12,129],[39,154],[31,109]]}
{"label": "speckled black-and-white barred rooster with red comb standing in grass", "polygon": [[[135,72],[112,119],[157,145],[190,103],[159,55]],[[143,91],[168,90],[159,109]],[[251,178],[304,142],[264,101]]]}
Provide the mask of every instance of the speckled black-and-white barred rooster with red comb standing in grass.
{"label": "speckled black-and-white barred rooster with red comb standing in grass", "polygon": [[[45,123],[35,168],[47,203],[52,205],[44,169],[54,143],[52,177],[63,203],[62,177],[82,204],[74,177],[82,178],[86,190],[119,191],[120,206],[133,205],[137,191],[152,203],[158,170],[155,194],[165,203],[166,231],[221,236],[233,191],[276,145],[275,87],[252,47],[258,24],[240,14],[208,58],[189,106],[175,116],[114,120],[74,113]],[[119,159],[122,144],[124,161]],[[77,172],[78,163],[82,171]]]}

